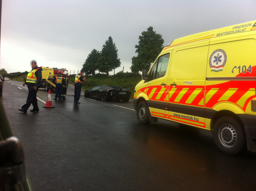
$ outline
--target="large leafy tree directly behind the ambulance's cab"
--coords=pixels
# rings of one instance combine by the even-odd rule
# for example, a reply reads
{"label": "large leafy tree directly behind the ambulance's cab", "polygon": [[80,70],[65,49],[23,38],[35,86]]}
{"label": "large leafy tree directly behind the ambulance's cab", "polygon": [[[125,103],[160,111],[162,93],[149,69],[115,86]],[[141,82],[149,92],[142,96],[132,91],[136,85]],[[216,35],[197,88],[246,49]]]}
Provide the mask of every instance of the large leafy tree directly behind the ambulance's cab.
{"label": "large leafy tree directly behind the ambulance's cab", "polygon": [[130,67],[133,73],[138,73],[144,68],[149,70],[150,64],[156,60],[163,49],[164,40],[162,35],[156,34],[152,26],[141,34],[139,44],[135,45],[135,52],[138,53],[138,56],[132,58],[132,66]]}

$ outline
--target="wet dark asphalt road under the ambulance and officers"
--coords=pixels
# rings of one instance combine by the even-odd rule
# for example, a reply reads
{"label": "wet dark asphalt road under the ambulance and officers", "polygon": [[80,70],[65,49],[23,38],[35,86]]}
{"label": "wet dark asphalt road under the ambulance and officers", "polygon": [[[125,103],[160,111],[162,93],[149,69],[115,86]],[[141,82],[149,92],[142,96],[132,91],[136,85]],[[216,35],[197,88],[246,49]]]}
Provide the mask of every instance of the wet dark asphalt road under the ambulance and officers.
{"label": "wet dark asphalt road under the ambulance and officers", "polygon": [[[24,146],[34,191],[256,189],[255,153],[226,155],[210,132],[176,123],[141,125],[132,101],[81,96],[81,104],[74,104],[72,88],[67,100],[52,101],[54,109],[38,101],[40,112],[22,113],[18,109],[26,101],[26,86],[4,82],[2,102]],[[37,96],[46,101],[48,92],[40,89]]]}

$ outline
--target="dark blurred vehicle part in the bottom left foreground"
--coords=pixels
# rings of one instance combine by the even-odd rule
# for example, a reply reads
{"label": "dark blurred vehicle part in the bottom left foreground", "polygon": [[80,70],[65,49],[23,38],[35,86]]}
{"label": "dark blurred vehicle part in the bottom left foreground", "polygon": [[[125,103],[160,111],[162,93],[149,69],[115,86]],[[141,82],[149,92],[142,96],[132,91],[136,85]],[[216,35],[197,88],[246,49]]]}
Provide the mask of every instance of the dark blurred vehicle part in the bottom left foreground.
{"label": "dark blurred vehicle part in the bottom left foreground", "polygon": [[0,99],[0,190],[32,191],[20,141],[12,135]]}

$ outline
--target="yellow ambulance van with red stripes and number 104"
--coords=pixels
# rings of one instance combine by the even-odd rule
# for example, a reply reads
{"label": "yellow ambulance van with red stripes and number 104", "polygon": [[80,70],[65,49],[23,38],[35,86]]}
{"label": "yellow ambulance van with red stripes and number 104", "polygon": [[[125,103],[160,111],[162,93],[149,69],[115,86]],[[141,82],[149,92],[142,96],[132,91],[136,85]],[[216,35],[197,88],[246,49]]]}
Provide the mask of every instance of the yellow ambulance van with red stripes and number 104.
{"label": "yellow ambulance van with red stripes and number 104", "polygon": [[134,90],[140,123],[213,132],[217,147],[256,152],[256,20],[174,40]]}

